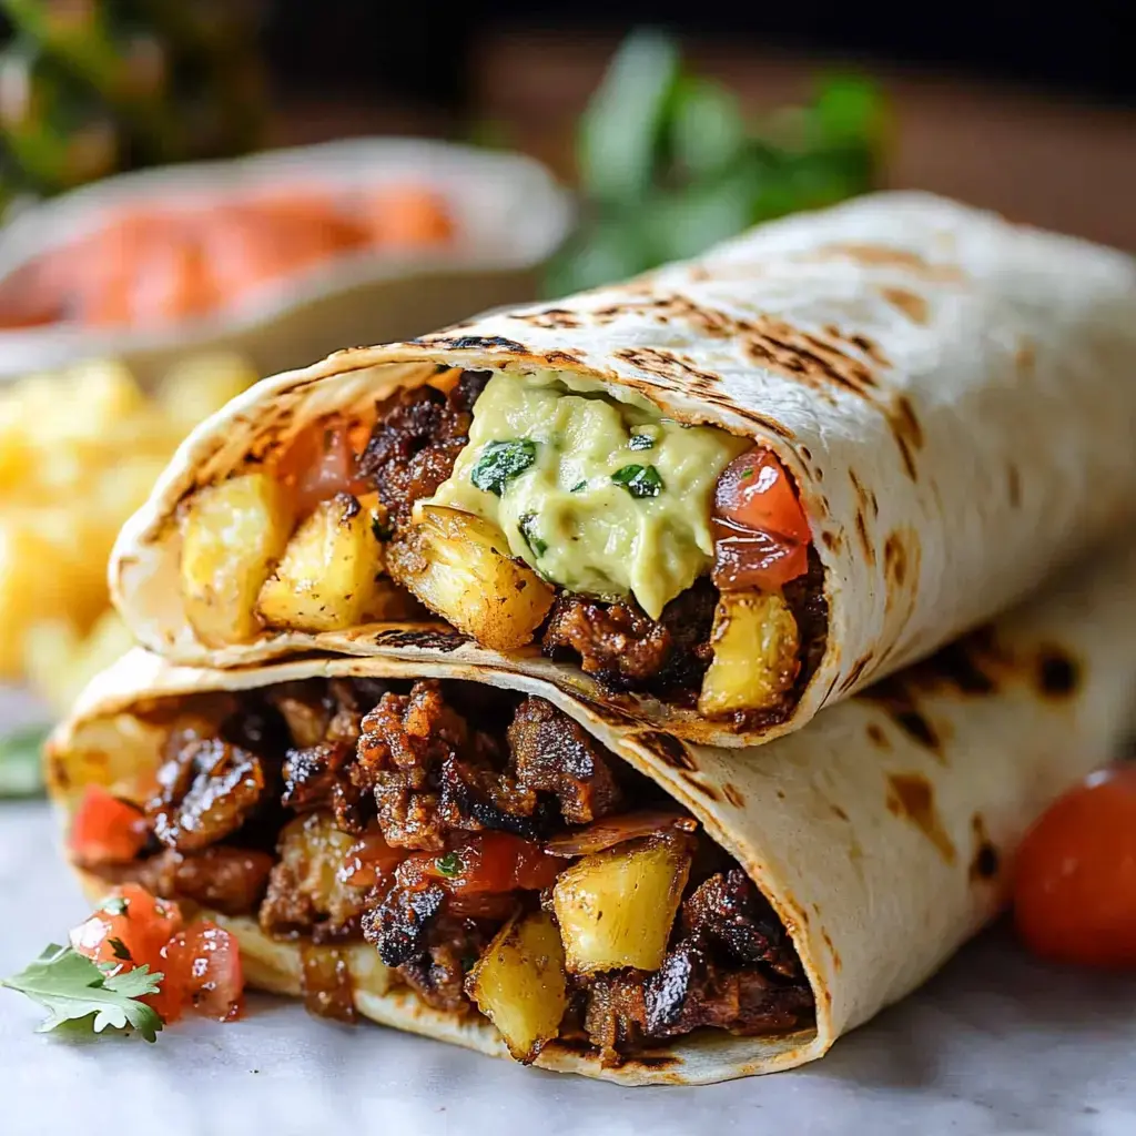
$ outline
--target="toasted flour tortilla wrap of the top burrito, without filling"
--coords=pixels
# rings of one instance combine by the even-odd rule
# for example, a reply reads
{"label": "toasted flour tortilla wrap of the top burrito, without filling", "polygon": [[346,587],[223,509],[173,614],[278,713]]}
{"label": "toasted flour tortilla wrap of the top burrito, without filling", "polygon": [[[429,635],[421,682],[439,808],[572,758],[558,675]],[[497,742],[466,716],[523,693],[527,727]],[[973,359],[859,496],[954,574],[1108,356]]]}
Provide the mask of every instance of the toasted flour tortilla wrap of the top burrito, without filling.
{"label": "toasted flour tortilla wrap of the top burrito, without filling", "polygon": [[116,603],[139,641],[228,667],[296,651],[495,666],[390,625],[209,650],[177,583],[178,503],[314,419],[437,365],[575,371],[775,450],[824,563],[827,649],[778,724],[611,695],[535,648],[513,669],[692,741],[753,744],[921,658],[1136,521],[1136,261],[917,193],[753,229],[630,283],[266,379],[177,451],[123,529]]}

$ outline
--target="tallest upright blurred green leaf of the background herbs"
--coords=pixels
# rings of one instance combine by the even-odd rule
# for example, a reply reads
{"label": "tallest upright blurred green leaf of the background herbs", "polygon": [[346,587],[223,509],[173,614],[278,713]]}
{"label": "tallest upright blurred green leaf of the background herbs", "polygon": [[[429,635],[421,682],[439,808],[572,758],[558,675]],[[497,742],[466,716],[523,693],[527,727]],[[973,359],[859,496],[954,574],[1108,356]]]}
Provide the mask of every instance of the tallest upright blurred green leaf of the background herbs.
{"label": "tallest upright blurred green leaf of the background herbs", "polygon": [[678,66],[678,49],[661,32],[636,31],[620,44],[580,119],[577,161],[587,197],[628,201],[650,187]]}

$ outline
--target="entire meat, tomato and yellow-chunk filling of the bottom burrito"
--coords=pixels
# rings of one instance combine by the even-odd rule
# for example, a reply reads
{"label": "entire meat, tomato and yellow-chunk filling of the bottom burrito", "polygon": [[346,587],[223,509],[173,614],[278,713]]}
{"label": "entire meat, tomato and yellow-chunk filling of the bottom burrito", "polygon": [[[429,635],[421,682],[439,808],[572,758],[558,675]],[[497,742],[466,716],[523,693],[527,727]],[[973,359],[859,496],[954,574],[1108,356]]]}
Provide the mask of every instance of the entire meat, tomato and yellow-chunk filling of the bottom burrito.
{"label": "entire meat, tomato and yellow-chunk filling of the bottom burrito", "polygon": [[[151,738],[145,782],[85,790],[73,858],[299,945],[317,1013],[409,988],[484,1014],[520,1061],[557,1044],[607,1064],[695,1029],[813,1022],[745,872],[544,699],[312,679],[120,718],[119,749]],[[76,752],[114,745],[99,736]]]}

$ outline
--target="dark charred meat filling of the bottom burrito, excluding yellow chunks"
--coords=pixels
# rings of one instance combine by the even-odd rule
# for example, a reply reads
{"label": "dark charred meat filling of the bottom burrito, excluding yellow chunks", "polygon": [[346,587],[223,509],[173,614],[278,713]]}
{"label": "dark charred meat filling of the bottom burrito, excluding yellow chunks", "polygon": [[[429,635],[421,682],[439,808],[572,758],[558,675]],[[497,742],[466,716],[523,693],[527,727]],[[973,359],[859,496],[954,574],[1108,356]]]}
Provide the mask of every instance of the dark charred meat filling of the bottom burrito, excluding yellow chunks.
{"label": "dark charred meat filling of the bottom burrito, excluding yellow chunks", "polygon": [[[473,1014],[470,968],[515,916],[554,910],[551,887],[575,862],[545,842],[660,804],[652,783],[540,698],[335,679],[232,704],[219,724],[178,720],[145,809],[147,846],[101,872],[298,939],[307,1005],[343,1020],[344,951],[361,941],[431,1006]],[[691,883],[661,967],[568,976],[566,1044],[612,1063],[701,1027],[811,1021],[768,903],[720,847],[690,840]]]}

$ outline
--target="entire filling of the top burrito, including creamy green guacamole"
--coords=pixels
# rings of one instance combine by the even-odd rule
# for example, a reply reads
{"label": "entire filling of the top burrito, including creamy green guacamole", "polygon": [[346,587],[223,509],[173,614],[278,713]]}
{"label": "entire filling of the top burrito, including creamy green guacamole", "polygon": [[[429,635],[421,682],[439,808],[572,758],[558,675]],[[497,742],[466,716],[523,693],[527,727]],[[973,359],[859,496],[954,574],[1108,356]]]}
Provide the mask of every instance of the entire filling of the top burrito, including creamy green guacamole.
{"label": "entire filling of the top burrito, including creamy green guacamole", "polygon": [[827,633],[771,451],[563,373],[441,369],[199,491],[181,526],[209,645],[433,612],[755,727],[788,713]]}

